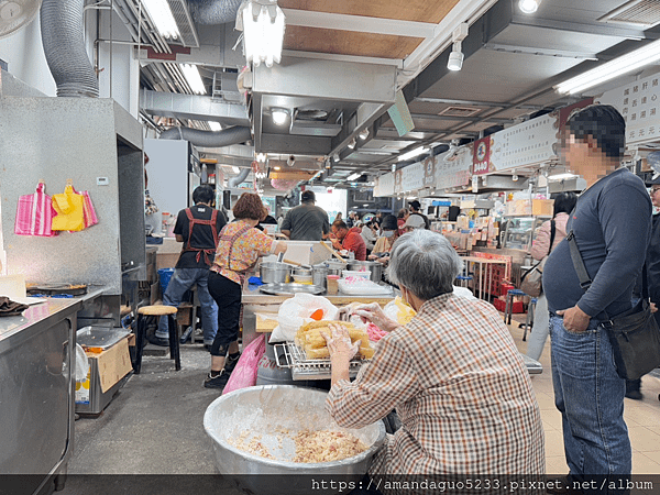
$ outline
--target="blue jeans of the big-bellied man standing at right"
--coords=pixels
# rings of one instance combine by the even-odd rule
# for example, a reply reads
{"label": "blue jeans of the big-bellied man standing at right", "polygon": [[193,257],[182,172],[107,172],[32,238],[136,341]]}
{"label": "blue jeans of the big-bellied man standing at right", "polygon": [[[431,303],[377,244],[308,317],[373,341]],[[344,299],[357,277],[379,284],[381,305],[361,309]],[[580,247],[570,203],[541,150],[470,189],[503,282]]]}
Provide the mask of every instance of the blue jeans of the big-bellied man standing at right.
{"label": "blue jeans of the big-bellied man standing at right", "polygon": [[554,404],[562,415],[571,475],[629,475],[630,439],[624,421],[626,382],[616,373],[607,331],[592,319],[570,332],[550,314]]}

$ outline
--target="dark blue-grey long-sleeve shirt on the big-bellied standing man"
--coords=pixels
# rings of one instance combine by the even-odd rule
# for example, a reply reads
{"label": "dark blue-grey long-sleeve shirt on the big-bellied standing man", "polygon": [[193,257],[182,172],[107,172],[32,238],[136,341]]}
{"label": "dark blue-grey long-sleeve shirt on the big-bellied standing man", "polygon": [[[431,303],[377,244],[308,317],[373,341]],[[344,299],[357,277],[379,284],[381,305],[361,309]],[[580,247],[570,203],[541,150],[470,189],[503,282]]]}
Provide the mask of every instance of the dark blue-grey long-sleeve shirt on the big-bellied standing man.
{"label": "dark blue-grey long-sleeve shirt on the big-bellied standing man", "polygon": [[578,200],[566,232],[573,230],[592,285],[584,292],[568,241],[552,251],[543,270],[543,292],[551,311],[575,305],[604,319],[630,309],[651,227],[651,199],[641,179],[625,168],[590,187]]}

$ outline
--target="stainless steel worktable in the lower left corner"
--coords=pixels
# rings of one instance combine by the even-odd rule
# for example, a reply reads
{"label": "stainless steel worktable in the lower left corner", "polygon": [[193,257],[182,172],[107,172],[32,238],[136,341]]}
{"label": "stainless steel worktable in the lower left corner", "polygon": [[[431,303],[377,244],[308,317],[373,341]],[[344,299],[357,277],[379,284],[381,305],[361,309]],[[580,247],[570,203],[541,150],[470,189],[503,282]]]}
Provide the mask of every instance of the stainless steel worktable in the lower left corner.
{"label": "stainless steel worktable in the lower left corner", "polygon": [[50,493],[74,448],[74,369],[82,306],[103,293],[48,298],[23,316],[0,318],[0,474],[11,493]]}

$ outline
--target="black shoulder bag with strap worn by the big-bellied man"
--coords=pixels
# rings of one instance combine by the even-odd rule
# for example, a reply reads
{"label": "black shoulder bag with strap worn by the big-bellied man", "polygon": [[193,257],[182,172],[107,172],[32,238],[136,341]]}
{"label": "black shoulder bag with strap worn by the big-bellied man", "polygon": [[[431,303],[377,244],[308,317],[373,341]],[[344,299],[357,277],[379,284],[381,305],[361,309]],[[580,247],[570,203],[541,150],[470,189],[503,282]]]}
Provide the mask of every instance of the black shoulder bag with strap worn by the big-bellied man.
{"label": "black shoulder bag with strap worn by the big-bellied man", "polygon": [[[586,290],[591,278],[584,267],[573,231],[566,235],[571,248],[571,260],[580,286]],[[660,365],[660,330],[649,306],[649,287],[647,283],[646,263],[641,268],[641,299],[629,311],[616,318],[607,317],[603,327],[607,330],[616,372],[622,378],[637,380]]]}

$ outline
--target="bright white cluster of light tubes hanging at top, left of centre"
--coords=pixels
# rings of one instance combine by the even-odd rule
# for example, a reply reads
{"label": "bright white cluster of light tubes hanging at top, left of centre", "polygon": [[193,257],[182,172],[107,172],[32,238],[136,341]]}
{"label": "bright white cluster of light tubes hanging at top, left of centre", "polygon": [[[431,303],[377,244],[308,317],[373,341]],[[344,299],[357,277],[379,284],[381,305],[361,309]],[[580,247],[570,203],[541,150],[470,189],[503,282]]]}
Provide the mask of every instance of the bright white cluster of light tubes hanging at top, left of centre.
{"label": "bright white cluster of light tubes hanging at top, left of centre", "polygon": [[243,31],[245,58],[258,66],[266,67],[282,61],[284,43],[284,12],[277,3],[262,6],[257,1],[245,3],[237,19],[237,29]]}

